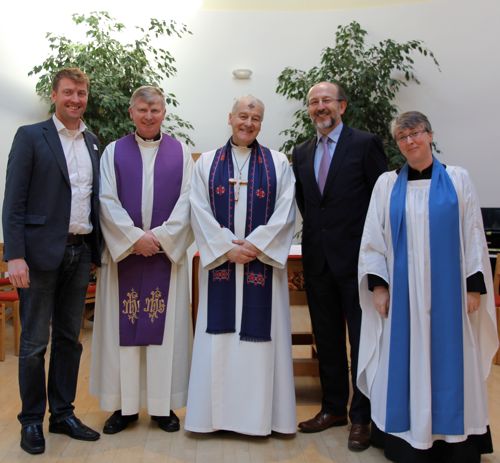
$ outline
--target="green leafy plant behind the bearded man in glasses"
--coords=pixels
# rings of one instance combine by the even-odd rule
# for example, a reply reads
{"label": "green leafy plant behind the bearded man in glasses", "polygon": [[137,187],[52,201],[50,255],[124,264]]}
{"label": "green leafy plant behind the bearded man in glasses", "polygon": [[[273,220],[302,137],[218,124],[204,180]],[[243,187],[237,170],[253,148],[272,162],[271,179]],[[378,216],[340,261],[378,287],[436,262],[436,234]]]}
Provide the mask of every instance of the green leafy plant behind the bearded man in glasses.
{"label": "green leafy plant behind the bearded man in glasses", "polygon": [[[429,57],[439,69],[432,51],[420,40],[398,43],[392,39],[377,45],[366,43],[367,32],[356,21],[339,26],[335,46],[321,53],[321,64],[309,71],[286,68],[278,77],[277,93],[305,104],[309,88],[321,81],[338,82],[344,87],[349,104],[343,121],[352,127],[379,135],[389,158],[389,165],[402,163],[389,129],[398,112],[394,103],[398,90],[408,82],[419,83],[412,55]],[[292,127],[283,130],[288,139],[281,149],[291,152],[293,146],[315,135],[316,130],[305,109],[294,113]]]}

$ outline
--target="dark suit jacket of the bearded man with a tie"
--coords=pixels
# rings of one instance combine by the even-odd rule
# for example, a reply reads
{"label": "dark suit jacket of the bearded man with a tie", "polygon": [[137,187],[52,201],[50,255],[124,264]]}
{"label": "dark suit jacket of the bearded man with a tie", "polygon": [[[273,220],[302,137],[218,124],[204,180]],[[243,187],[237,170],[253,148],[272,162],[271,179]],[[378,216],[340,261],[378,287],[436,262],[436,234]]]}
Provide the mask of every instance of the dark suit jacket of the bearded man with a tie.
{"label": "dark suit jacket of the bearded man with a tie", "polygon": [[375,181],[387,170],[381,140],[344,125],[323,195],[314,175],[316,137],[292,154],[297,205],[303,218],[302,256],[306,272],[328,263],[335,276],[356,276],[358,254]]}

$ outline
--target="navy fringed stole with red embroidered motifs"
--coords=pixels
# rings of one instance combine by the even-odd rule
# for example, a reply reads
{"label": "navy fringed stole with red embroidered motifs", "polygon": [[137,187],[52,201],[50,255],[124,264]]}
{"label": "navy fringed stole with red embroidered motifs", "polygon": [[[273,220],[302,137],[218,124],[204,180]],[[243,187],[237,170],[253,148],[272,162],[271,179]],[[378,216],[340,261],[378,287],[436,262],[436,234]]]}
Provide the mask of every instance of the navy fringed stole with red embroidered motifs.
{"label": "navy fringed stole with red embroidered motifs", "polygon": [[[276,170],[269,149],[257,141],[251,146],[248,166],[247,215],[245,236],[265,225],[274,212]],[[221,227],[234,232],[234,177],[231,140],[219,148],[210,168],[210,206]],[[236,306],[236,264],[229,261],[208,274],[207,333],[234,333]],[[243,278],[243,313],[240,339],[263,342],[271,340],[273,268],[258,259],[245,264]]]}

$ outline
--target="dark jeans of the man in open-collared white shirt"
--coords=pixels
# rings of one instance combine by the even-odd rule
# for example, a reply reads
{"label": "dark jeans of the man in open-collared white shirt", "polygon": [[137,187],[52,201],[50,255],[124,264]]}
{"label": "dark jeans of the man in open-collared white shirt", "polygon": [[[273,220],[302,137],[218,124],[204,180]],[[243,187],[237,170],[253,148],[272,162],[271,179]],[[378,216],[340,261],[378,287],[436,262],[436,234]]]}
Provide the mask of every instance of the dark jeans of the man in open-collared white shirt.
{"label": "dark jeans of the man in open-collared white shirt", "polygon": [[[30,269],[30,287],[19,291],[21,348],[19,390],[22,425],[41,424],[47,399],[51,421],[73,414],[82,345],[79,341],[85,293],[89,282],[90,249],[68,245],[58,269]],[[45,352],[52,339],[48,383]]]}

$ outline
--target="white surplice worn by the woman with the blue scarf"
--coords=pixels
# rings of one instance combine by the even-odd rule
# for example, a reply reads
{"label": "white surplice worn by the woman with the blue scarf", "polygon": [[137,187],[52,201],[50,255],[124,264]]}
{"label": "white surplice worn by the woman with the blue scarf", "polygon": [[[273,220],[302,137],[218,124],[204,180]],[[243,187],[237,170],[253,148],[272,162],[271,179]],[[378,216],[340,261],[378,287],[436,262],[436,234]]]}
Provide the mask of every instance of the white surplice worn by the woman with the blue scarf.
{"label": "white surplice worn by the woman with the blue scarf", "polygon": [[[459,200],[463,298],[464,426],[465,435],[432,434],[431,419],[431,276],[428,204],[431,180],[409,181],[406,192],[408,280],[410,298],[410,423],[409,431],[394,433],[412,447],[428,449],[433,441],[461,442],[484,434],[488,425],[486,378],[497,349],[491,267],[481,211],[468,173],[447,166]],[[358,387],[370,398],[372,419],[385,431],[389,341],[392,306],[387,319],[375,310],[368,290],[368,274],[389,284],[392,300],[393,249],[390,197],[395,171],[380,176],[372,193],[359,256],[360,302],[363,310],[358,363]],[[482,272],[487,294],[479,311],[467,314],[466,278]]]}

